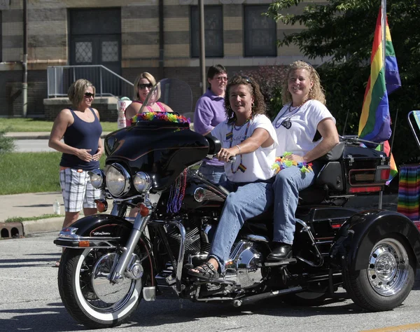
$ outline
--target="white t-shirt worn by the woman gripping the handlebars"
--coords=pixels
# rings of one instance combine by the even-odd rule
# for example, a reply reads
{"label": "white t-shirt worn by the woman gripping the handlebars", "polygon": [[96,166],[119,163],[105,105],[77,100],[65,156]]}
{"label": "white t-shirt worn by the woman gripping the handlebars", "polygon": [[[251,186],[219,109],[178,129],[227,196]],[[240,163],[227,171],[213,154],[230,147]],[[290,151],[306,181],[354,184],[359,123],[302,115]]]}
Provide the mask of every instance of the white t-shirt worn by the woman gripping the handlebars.
{"label": "white t-shirt worn by the woman gripping the handlebars", "polygon": [[[246,130],[246,127],[248,127],[248,130]],[[276,160],[276,147],[278,146],[276,132],[272,123],[270,123],[269,118],[262,114],[257,114],[249,123],[245,123],[240,128],[234,125],[232,130],[232,124],[228,124],[228,120],[225,120],[216,125],[214,130],[211,131],[211,134],[221,141],[223,148],[230,148],[240,144],[248,137],[251,137],[253,131],[257,128],[264,128],[267,130],[274,140],[274,144],[267,146],[267,148],[262,148],[260,146],[251,153],[237,155],[233,164],[225,162],[226,176],[230,181],[253,182],[257,180],[267,180],[273,177],[274,170],[272,170],[272,165]],[[245,172],[241,171],[242,167],[238,168],[241,164],[241,156],[242,165],[246,167]],[[232,169],[233,171],[237,170],[237,172],[234,173]]]}

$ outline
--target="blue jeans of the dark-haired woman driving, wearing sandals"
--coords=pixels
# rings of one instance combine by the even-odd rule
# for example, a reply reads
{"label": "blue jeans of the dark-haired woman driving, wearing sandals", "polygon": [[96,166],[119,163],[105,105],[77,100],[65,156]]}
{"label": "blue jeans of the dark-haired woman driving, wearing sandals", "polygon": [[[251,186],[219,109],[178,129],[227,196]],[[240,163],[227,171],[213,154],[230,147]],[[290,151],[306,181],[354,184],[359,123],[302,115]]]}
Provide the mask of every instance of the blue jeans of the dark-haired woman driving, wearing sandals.
{"label": "blue jeans of the dark-haired woman driving, wearing sandals", "polygon": [[215,258],[223,272],[230,249],[244,222],[269,209],[274,197],[271,180],[240,184],[227,181],[222,186],[231,193],[226,198],[209,258]]}

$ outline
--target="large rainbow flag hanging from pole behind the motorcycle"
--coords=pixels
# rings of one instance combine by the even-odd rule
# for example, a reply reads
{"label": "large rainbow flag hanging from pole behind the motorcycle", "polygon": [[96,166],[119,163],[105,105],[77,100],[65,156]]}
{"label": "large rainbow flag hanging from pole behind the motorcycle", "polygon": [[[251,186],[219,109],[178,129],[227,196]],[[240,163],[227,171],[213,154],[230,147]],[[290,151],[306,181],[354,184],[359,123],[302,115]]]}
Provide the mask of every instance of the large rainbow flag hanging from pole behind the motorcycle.
{"label": "large rainbow flag hanging from pole behind the motorcycle", "polygon": [[386,20],[385,68],[382,59],[381,10],[377,18],[376,29],[370,58],[370,77],[367,81],[363,108],[360,115],[358,136],[369,141],[382,142],[391,137],[391,118],[389,116],[388,95],[400,88],[401,80],[398,64]]}

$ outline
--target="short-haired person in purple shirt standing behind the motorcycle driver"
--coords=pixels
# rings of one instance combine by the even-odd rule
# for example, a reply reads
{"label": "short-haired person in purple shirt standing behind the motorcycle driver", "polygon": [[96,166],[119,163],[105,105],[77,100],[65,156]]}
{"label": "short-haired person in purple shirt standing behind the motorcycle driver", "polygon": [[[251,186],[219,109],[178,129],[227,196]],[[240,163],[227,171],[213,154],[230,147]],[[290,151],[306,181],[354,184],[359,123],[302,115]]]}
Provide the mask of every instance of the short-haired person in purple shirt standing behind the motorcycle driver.
{"label": "short-haired person in purple shirt standing behind the motorcycle driver", "polygon": [[[194,113],[194,130],[206,135],[216,125],[226,120],[225,90],[228,83],[228,74],[221,64],[211,66],[207,71],[207,82],[210,87],[197,100]],[[223,162],[217,160],[204,160],[199,170],[204,177],[214,184],[225,181],[225,168]]]}

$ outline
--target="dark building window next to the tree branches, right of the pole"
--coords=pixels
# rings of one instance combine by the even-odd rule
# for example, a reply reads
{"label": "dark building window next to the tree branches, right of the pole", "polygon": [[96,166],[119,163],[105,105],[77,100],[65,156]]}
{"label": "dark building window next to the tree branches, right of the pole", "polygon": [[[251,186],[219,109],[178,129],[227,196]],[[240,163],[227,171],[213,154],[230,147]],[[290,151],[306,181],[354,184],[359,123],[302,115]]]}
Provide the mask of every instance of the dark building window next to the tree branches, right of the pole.
{"label": "dark building window next to the tree branches, right of the pole", "polygon": [[244,51],[246,57],[277,55],[276,22],[261,15],[267,6],[244,6]]}

